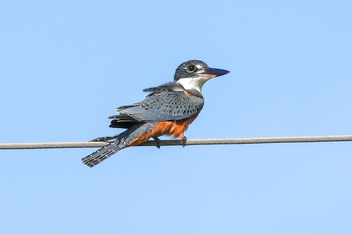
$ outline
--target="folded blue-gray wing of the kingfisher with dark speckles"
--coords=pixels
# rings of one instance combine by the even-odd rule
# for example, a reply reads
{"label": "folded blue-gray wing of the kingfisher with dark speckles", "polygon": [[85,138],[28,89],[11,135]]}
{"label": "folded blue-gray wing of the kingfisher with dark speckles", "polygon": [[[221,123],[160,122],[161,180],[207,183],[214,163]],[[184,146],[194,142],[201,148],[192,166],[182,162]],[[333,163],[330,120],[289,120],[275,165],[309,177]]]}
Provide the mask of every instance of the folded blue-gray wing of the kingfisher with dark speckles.
{"label": "folded blue-gray wing of the kingfisher with dark speckles", "polygon": [[163,92],[133,105],[121,106],[117,111],[119,114],[110,116],[109,119],[116,119],[112,124],[118,124],[122,128],[131,122],[177,122],[199,113],[203,105],[204,99],[201,96],[189,95],[184,91]]}

